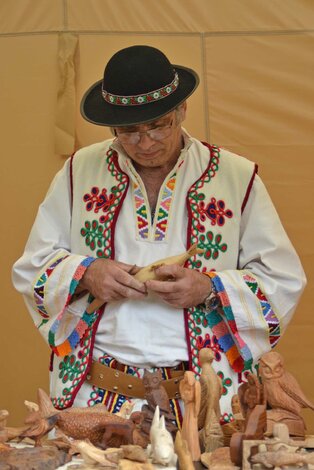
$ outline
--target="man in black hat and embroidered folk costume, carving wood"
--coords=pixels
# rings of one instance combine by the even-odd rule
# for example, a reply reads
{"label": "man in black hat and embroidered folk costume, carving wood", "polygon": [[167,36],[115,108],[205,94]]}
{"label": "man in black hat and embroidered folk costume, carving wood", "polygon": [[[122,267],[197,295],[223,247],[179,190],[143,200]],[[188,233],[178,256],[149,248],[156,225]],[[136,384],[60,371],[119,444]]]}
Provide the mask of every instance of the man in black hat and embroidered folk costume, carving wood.
{"label": "man in black hat and embroidered folk costume, carving wood", "polygon": [[[209,347],[228,420],[245,371],[291,319],[305,276],[256,165],[181,127],[197,85],[193,70],[133,46],[83,97],[84,118],[114,138],[66,162],[13,270],[53,352],[58,408],[139,407],[144,370],[157,367],[178,415],[177,377],[199,375]],[[133,276],[194,243],[203,252],[184,267]]]}

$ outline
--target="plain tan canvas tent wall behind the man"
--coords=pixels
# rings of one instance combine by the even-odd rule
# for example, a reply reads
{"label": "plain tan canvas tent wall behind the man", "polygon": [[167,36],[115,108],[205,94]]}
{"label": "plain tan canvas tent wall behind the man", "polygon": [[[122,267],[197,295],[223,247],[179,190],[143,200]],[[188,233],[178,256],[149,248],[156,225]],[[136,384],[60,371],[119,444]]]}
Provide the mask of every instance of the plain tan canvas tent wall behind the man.
{"label": "plain tan canvas tent wall behind the man", "polygon": [[0,407],[21,424],[23,401],[48,390],[49,351],[12,287],[11,266],[67,156],[109,136],[80,117],[79,102],[109,57],[132,44],[195,69],[201,84],[185,127],[258,163],[309,281],[278,350],[314,401],[313,2],[0,0]]}

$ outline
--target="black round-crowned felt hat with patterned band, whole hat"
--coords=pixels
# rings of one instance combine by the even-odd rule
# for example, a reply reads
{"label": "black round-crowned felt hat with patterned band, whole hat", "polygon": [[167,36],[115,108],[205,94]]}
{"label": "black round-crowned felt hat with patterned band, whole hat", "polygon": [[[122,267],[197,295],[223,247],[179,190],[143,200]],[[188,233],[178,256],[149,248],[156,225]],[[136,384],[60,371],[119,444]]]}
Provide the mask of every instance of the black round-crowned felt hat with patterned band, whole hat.
{"label": "black round-crowned felt hat with patterned band, whole hat", "polygon": [[150,46],[122,49],[109,60],[103,80],[81,102],[82,116],[99,126],[128,126],[169,113],[196,89],[194,70],[170,64]]}

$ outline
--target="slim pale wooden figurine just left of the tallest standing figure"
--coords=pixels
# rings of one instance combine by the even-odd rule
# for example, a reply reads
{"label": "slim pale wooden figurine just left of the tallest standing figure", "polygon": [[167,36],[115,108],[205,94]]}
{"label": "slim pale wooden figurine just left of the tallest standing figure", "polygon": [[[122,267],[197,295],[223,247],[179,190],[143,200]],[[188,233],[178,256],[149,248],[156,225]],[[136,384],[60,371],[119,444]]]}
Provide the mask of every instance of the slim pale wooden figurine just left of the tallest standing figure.
{"label": "slim pale wooden figurine just left of the tallest standing figure", "polygon": [[182,438],[186,440],[192,460],[195,462],[201,458],[197,425],[201,404],[201,385],[195,379],[193,372],[186,371],[179,384],[179,389],[184,402]]}

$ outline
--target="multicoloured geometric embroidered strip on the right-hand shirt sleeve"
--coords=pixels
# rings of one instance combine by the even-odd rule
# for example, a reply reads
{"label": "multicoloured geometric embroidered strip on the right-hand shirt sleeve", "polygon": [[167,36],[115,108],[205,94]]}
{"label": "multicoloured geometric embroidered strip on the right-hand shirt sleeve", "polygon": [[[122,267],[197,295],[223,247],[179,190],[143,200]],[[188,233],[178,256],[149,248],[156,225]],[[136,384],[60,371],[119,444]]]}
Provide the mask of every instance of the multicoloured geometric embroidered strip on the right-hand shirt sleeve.
{"label": "multicoloured geometric embroidered strip on the right-hand shirt sleeve", "polygon": [[245,274],[243,276],[243,279],[246,285],[251,289],[253,294],[256,295],[256,297],[258,298],[260,302],[264,318],[268,324],[269,343],[271,347],[273,348],[274,346],[276,346],[276,344],[278,343],[280,339],[281,332],[280,332],[279,318],[273,311],[272,306],[270,305],[266,296],[261,291],[257,283],[257,280],[248,274]]}

